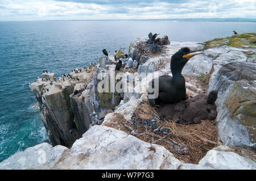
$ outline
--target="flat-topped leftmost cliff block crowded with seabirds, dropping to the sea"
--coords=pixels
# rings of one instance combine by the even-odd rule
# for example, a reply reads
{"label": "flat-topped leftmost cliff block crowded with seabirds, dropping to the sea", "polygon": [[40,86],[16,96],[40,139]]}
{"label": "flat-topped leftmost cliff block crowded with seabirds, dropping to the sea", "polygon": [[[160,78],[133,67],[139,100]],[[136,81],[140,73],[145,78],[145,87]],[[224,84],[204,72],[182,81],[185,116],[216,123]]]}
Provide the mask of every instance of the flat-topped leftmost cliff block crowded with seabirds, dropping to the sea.
{"label": "flat-topped leftmost cliff block crowded with seabirds, dropping to the sea", "polygon": [[42,121],[53,146],[71,147],[89,129],[88,115],[94,111],[90,107],[93,105],[90,103],[90,96],[82,99],[73,92],[86,87],[87,91],[92,91],[89,87],[92,87],[90,82],[94,73],[94,67],[88,71],[82,69],[81,72],[72,72],[72,78],[55,78],[55,74],[43,73],[43,78],[31,83],[30,89],[38,100]]}

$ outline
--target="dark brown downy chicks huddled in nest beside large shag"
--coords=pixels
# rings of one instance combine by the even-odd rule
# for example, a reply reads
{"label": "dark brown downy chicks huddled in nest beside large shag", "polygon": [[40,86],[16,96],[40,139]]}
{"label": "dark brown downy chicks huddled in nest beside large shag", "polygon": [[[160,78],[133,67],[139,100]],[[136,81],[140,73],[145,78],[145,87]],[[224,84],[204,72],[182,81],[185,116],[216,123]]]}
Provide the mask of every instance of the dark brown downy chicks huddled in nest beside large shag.
{"label": "dark brown downy chicks huddled in nest beside large shag", "polygon": [[181,124],[197,124],[205,119],[214,120],[217,116],[217,95],[218,91],[210,91],[209,95],[199,94],[179,103],[164,104],[159,107],[159,115]]}

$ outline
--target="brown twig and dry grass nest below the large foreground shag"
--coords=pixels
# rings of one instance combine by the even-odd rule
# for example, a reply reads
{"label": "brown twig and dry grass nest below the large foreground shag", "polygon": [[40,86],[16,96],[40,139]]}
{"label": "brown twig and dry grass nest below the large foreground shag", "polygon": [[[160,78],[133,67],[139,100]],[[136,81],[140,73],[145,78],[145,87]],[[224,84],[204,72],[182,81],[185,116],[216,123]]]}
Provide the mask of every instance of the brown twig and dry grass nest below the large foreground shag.
{"label": "brown twig and dry grass nest below the large foreground shag", "polygon": [[208,150],[217,146],[217,128],[214,121],[203,120],[199,124],[181,125],[172,120],[160,120],[158,112],[141,103],[134,112],[132,122],[115,113],[109,127],[125,131],[150,144],[164,146],[177,159],[185,163],[199,163]]}

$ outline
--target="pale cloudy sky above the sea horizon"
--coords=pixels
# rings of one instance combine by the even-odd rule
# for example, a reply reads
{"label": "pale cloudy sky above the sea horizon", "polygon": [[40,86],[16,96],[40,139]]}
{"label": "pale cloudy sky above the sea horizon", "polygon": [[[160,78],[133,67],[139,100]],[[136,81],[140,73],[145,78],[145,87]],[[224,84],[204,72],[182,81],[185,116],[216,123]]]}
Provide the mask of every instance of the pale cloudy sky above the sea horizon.
{"label": "pale cloudy sky above the sea horizon", "polygon": [[256,0],[0,0],[0,21],[256,18]]}

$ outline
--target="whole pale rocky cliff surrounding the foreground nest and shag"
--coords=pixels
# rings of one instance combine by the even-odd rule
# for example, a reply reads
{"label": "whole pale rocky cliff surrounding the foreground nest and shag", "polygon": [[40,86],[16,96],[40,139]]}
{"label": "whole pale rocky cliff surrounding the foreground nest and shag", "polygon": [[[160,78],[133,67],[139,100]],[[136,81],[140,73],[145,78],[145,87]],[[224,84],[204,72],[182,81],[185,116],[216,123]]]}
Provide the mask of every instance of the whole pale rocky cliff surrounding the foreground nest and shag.
{"label": "whole pale rocky cliff surrounding the foreground nest and shag", "polygon": [[[44,143],[20,151],[1,162],[0,168],[256,169],[254,38],[254,33],[246,33],[225,41],[171,41],[152,53],[154,47],[144,47],[148,38],[138,37],[130,44],[128,58],[123,58],[122,50],[115,54],[124,63],[120,71],[114,71],[123,73],[121,78],[110,76],[117,62],[113,55],[101,57],[97,66],[72,71],[69,77],[43,73],[30,88],[54,147]],[[238,45],[233,39],[243,44]],[[168,129],[159,128],[162,122],[158,112],[147,102],[150,78],[171,75],[170,58],[182,47],[204,49],[204,54],[192,57],[183,69],[187,94],[218,90],[218,116],[214,123],[217,136],[214,140],[199,136],[210,150],[204,150],[197,164],[179,157],[192,152],[184,142],[171,137],[174,128],[168,127],[167,134],[157,133]],[[111,90],[112,85],[117,87],[120,80],[121,92],[102,91]],[[135,124],[140,128],[135,129]],[[139,132],[142,127],[150,133],[148,139],[145,132]]]}

